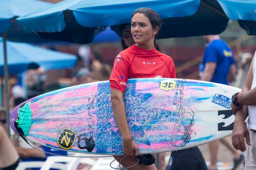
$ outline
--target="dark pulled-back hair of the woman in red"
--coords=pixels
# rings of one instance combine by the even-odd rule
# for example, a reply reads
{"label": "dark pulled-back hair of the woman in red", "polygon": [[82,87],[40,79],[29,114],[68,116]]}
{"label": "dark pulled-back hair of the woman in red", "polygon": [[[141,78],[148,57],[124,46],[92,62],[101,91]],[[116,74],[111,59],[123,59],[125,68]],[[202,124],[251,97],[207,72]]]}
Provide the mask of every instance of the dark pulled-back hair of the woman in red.
{"label": "dark pulled-back hair of the woman in red", "polygon": [[151,8],[145,8],[145,7],[138,8],[135,11],[133,11],[132,17],[136,13],[141,13],[141,14],[145,15],[145,17],[147,17],[150,20],[150,23],[151,23],[153,29],[156,28],[157,26],[159,27],[159,31],[155,36],[155,40],[156,40],[156,37],[158,36],[161,26],[162,26],[162,21],[161,21],[160,16],[158,15],[158,13]]}

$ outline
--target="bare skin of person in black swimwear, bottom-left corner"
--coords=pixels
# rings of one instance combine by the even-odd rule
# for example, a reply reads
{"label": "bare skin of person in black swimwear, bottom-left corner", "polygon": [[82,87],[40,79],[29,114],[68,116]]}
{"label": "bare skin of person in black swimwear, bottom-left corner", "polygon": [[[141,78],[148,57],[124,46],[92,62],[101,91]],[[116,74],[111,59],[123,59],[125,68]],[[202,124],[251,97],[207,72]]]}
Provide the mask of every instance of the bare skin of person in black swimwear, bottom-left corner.
{"label": "bare skin of person in black swimwear, bottom-left corner", "polygon": [[13,165],[19,159],[13,144],[9,140],[4,128],[0,126],[0,167]]}

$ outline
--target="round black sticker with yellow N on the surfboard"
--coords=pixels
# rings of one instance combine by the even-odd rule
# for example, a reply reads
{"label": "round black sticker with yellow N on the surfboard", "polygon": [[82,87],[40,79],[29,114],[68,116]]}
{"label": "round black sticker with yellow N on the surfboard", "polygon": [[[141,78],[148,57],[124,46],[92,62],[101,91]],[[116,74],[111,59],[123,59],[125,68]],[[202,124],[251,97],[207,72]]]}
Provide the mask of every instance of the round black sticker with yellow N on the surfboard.
{"label": "round black sticker with yellow N on the surfboard", "polygon": [[57,144],[63,149],[71,149],[76,141],[76,132],[69,128],[64,128],[59,133]]}

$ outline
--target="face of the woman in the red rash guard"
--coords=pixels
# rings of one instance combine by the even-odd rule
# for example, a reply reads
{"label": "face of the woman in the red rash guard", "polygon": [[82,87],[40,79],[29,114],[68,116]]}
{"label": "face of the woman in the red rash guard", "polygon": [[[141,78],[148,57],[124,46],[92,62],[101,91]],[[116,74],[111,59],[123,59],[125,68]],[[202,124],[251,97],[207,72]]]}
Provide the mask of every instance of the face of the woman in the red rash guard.
{"label": "face of the woman in the red rash guard", "polygon": [[154,43],[158,29],[153,29],[148,17],[144,14],[136,13],[132,17],[132,37],[138,45],[149,45]]}

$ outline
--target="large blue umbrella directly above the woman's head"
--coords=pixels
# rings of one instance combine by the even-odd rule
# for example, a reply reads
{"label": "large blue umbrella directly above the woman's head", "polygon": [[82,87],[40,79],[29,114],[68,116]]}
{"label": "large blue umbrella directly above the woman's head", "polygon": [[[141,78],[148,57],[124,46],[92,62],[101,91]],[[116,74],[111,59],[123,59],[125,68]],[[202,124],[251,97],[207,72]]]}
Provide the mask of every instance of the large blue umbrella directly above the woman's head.
{"label": "large blue umbrella directly above the woman's head", "polygon": [[157,8],[167,18],[192,15],[199,4],[200,0],[65,0],[17,20],[26,32],[43,38],[91,43],[98,27],[129,23],[131,13],[141,6]]}

